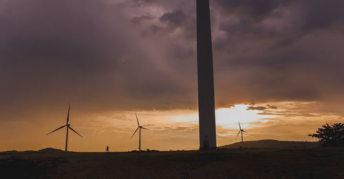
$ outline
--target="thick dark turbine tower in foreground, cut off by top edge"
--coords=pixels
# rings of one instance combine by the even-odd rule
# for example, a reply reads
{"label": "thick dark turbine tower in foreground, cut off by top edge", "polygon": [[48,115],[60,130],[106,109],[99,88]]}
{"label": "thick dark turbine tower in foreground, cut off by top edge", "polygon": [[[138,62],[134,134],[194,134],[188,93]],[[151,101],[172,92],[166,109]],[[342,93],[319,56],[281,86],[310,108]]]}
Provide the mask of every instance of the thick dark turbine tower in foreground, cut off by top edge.
{"label": "thick dark turbine tower in foreground, cut off by top edge", "polygon": [[209,0],[196,0],[200,150],[216,148],[213,49]]}

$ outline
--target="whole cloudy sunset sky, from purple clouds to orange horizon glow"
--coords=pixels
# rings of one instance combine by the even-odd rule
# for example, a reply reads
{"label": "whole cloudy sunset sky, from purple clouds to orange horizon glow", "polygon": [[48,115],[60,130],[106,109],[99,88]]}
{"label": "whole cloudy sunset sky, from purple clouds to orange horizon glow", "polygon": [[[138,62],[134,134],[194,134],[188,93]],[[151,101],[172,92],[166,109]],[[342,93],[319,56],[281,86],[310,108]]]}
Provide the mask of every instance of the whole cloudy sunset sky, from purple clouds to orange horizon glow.
{"label": "whole cloudy sunset sky, from purple clouds to orange horizon glow", "polygon": [[[344,116],[344,1],[211,0],[217,145]],[[195,1],[1,0],[0,151],[198,149]]]}

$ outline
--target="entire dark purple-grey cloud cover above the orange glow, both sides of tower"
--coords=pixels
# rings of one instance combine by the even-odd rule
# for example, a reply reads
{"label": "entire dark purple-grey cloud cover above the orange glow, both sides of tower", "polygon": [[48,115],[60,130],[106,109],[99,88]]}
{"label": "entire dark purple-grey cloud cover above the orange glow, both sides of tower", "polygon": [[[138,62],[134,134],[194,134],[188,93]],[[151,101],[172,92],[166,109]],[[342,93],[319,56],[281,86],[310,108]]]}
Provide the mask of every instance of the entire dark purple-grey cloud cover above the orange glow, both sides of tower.
{"label": "entire dark purple-grey cloud cover above the orange glow, both sides of tower", "polygon": [[[0,2],[1,120],[69,101],[85,112],[197,106],[195,1],[106,2]],[[343,8],[211,1],[217,105],[341,104]]]}

